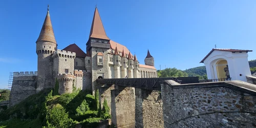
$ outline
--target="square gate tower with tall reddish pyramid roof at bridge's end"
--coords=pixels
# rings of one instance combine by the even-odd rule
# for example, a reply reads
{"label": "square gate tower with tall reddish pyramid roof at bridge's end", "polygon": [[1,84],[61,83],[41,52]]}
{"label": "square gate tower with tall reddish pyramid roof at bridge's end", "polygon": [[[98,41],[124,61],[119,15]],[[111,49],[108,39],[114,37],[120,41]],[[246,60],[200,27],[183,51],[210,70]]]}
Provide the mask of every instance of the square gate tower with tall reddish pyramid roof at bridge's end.
{"label": "square gate tower with tall reddish pyramid roof at bridge's end", "polygon": [[[91,68],[92,68],[92,92],[95,92],[95,85],[97,78],[108,78],[108,72],[103,72],[104,70],[109,71],[109,67],[99,66],[98,64],[102,64],[101,59],[97,58],[98,52],[106,52],[110,49],[110,38],[106,36],[103,24],[100,19],[100,15],[97,7],[94,11],[93,22],[91,27],[91,32],[89,36],[89,40],[87,41],[87,51],[91,54]],[[101,62],[100,62],[101,61]],[[104,61],[103,61],[104,62]],[[102,70],[104,68],[104,70]],[[105,73],[105,74],[104,74]]]}

